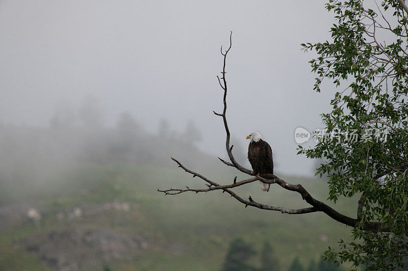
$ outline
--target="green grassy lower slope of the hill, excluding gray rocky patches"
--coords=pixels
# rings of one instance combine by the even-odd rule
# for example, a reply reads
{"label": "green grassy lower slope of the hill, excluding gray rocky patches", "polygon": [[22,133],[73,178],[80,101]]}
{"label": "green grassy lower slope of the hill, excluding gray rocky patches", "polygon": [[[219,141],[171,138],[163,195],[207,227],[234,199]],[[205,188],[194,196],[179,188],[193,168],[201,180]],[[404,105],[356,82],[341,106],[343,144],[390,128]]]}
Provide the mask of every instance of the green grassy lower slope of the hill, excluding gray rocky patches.
{"label": "green grassy lower slope of the hill, excluding gray rocky patches", "polygon": [[[222,184],[231,183],[235,176],[230,169],[201,173]],[[238,176],[238,180],[243,178],[244,175]],[[311,259],[316,260],[327,246],[336,246],[340,238],[349,236],[349,228],[320,213],[286,215],[250,206],[245,208],[221,191],[175,196],[157,192],[158,188],[186,185],[205,188],[200,179],[192,178],[175,166],[90,164],[50,179],[32,186],[22,180],[1,187],[2,208],[31,204],[40,210],[42,218],[36,223],[21,219],[0,228],[0,269],[50,269],[38,254],[29,252],[25,244],[36,240],[44,242],[49,232],[62,229],[104,229],[141,236],[146,245],[136,254],[108,260],[96,256],[96,261],[80,267],[102,269],[105,264],[112,270],[219,269],[228,243],[236,236],[244,237],[258,251],[264,240],[269,240],[286,269],[295,256],[307,264]],[[318,179],[286,179],[289,183],[302,184],[319,200],[327,197],[326,184]],[[308,206],[300,195],[277,185],[272,186],[269,193],[261,191],[258,183],[237,188],[236,192],[272,205]],[[112,202],[125,202],[131,207],[129,210],[98,207]],[[354,216],[355,202],[356,199],[350,199],[330,205]],[[74,208],[81,208],[84,215],[70,218]],[[57,218],[59,213],[64,217]],[[254,258],[254,264],[257,262]]]}

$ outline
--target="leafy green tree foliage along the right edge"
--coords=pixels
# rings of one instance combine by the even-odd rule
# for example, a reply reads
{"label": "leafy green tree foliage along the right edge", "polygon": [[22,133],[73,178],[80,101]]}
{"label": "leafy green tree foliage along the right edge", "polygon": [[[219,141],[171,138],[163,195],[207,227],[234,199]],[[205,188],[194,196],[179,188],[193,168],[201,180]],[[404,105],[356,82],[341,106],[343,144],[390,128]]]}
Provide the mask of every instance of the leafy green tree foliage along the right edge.
{"label": "leafy green tree foliage along the right edge", "polygon": [[[299,146],[299,152],[323,158],[316,174],[328,174],[330,200],[361,200],[354,242],[340,240],[325,259],[366,264],[367,270],[399,268],[408,255],[408,8],[402,0],[329,0],[326,9],[337,21],[331,41],[302,46],[318,54],[310,62],[317,73],[314,89],[323,90],[326,79],[339,90],[333,110],[322,114],[329,136],[316,135],[317,145]],[[368,221],[387,228],[361,230]]]}

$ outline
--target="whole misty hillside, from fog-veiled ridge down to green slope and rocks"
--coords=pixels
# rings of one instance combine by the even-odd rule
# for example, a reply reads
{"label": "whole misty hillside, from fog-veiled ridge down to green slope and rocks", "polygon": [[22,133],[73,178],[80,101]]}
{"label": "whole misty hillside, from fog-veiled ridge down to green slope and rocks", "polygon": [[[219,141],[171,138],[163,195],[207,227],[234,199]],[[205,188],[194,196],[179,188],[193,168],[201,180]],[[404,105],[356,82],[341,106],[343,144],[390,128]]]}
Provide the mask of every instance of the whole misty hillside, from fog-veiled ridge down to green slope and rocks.
{"label": "whole misty hillside, from fog-veiled ridge down to green slope and rocks", "polygon": [[[195,130],[191,124],[190,129]],[[244,208],[217,192],[157,192],[204,187],[171,156],[220,183],[247,177],[199,152],[197,130],[194,138],[168,130],[147,133],[130,115],[110,128],[1,126],[0,149],[7,154],[0,156],[1,269],[214,270],[238,236],[257,251],[268,240],[284,252],[279,257],[285,270],[295,255],[303,255],[305,266],[318,261],[327,245],[344,236],[345,227],[321,214]],[[321,181],[290,180],[324,199]],[[270,204],[304,205],[298,195],[278,187],[264,193],[253,183],[236,192]],[[349,204],[339,202],[336,208],[352,215]],[[253,258],[256,266],[259,257]]]}

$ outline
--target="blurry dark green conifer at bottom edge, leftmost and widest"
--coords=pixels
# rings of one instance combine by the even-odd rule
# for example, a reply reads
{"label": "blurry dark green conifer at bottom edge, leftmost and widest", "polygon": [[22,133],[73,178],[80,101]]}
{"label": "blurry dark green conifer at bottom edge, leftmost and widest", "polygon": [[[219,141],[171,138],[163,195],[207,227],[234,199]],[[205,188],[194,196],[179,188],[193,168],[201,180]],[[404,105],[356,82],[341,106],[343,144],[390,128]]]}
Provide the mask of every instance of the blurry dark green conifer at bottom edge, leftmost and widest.
{"label": "blurry dark green conifer at bottom edge, leftmost and widest", "polygon": [[256,251],[252,246],[245,242],[241,237],[237,237],[230,243],[230,249],[228,250],[225,262],[223,265],[223,271],[249,271],[256,270],[251,266],[249,260],[256,255]]}

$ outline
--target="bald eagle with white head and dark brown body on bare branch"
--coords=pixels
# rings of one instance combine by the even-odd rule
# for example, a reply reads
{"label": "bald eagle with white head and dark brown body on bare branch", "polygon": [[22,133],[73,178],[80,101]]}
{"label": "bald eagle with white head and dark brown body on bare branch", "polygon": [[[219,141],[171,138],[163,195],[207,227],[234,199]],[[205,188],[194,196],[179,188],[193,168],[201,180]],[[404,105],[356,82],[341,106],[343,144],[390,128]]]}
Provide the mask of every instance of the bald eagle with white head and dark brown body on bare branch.
{"label": "bald eagle with white head and dark brown body on bare branch", "polygon": [[[273,174],[272,148],[268,142],[262,140],[261,134],[258,132],[251,133],[246,139],[251,139],[248,146],[248,160],[252,166],[253,173],[255,175]],[[259,182],[263,191],[269,191],[271,184]]]}

